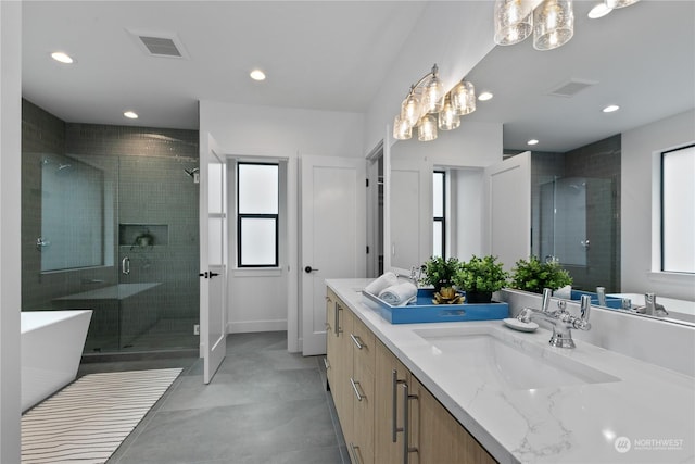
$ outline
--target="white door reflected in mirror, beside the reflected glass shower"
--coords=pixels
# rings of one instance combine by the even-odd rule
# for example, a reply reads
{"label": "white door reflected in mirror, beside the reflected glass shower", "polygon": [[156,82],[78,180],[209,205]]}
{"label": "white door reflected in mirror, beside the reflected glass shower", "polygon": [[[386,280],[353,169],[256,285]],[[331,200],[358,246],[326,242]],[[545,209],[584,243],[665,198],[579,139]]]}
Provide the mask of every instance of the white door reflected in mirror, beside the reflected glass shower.
{"label": "white door reflected in mirror, beside the reflected glass shower", "polygon": [[509,271],[531,254],[531,152],[485,167],[483,249]]}

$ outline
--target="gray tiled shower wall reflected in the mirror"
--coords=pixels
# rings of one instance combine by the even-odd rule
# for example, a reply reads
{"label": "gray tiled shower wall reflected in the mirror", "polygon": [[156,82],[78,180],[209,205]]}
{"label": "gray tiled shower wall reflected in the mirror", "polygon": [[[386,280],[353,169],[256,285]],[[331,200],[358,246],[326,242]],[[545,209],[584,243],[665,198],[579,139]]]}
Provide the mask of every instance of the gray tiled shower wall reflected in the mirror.
{"label": "gray tiled shower wall reflected in the mirror", "polygon": [[532,243],[541,248],[540,185],[554,177],[602,179],[586,190],[586,236],[591,240],[586,266],[567,266],[573,286],[620,291],[621,136],[615,135],[566,153],[532,152]]}

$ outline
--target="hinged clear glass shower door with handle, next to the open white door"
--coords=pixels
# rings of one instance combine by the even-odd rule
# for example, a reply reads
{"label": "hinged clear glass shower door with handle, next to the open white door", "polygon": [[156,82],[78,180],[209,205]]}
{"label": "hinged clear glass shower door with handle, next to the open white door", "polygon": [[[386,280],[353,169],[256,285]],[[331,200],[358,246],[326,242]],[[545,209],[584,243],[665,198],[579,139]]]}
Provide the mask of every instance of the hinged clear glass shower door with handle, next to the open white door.
{"label": "hinged clear glass shower door with handle, next to the open white door", "polygon": [[119,156],[121,351],[198,348],[198,159]]}

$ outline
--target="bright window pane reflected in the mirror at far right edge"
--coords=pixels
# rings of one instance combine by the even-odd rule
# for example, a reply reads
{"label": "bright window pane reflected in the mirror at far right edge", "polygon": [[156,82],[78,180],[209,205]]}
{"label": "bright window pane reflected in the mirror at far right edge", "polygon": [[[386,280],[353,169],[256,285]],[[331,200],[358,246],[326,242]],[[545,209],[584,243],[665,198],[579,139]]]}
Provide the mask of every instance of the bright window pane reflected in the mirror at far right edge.
{"label": "bright window pane reflected in the mirror at far right edge", "polygon": [[661,271],[695,273],[695,146],[661,155]]}

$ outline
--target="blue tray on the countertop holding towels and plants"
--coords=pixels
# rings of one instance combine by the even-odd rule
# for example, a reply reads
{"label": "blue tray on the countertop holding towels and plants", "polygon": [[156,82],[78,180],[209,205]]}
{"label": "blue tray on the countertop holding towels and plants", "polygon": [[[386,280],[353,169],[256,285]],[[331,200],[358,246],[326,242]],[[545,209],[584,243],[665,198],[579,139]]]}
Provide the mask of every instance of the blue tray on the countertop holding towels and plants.
{"label": "blue tray on the countertop holding towels and plants", "polygon": [[492,321],[509,317],[507,303],[488,304],[432,304],[434,290],[418,289],[415,304],[392,306],[366,291],[362,292],[365,304],[391,324],[443,323],[462,321]]}

